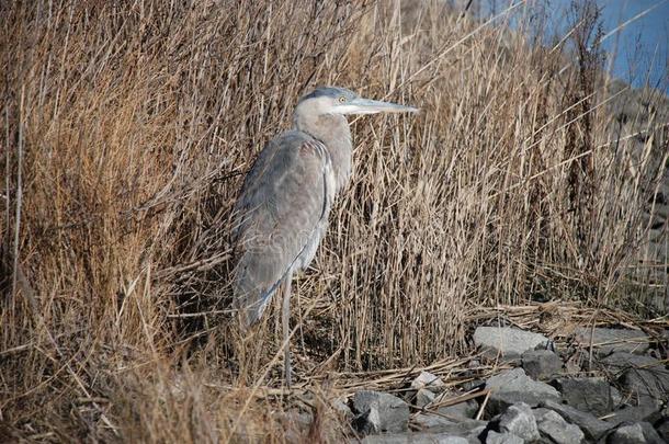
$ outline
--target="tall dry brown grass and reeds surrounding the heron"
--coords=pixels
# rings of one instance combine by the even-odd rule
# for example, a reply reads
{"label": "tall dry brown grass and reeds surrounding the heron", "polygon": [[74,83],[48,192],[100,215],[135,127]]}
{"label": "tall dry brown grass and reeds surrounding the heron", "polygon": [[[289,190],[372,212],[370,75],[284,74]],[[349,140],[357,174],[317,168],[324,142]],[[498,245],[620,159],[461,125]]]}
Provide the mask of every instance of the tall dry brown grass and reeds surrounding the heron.
{"label": "tall dry brown grass and reeds surrounding the heron", "polygon": [[[626,270],[667,135],[650,116],[653,137],[613,143],[598,67],[564,70],[560,48],[430,1],[0,13],[9,441],[334,440],[329,372],[465,352],[476,307],[643,305]],[[230,327],[228,219],[315,84],[422,111],[353,124],[352,183],[294,295],[296,365],[317,382],[303,403],[325,418],[307,432],[276,414],[301,400],[263,388],[280,377],[273,314],[245,340]]]}

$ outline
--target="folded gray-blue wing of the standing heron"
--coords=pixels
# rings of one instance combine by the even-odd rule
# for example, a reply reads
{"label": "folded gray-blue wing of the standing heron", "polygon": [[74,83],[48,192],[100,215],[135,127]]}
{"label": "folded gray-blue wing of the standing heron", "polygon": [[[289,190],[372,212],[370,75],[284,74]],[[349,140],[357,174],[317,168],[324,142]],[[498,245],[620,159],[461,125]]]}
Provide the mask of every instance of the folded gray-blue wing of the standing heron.
{"label": "folded gray-blue wing of the standing heron", "polygon": [[245,325],[256,322],[286,273],[328,216],[325,146],[299,132],[268,144],[249,171],[237,204],[239,251],[235,301]]}

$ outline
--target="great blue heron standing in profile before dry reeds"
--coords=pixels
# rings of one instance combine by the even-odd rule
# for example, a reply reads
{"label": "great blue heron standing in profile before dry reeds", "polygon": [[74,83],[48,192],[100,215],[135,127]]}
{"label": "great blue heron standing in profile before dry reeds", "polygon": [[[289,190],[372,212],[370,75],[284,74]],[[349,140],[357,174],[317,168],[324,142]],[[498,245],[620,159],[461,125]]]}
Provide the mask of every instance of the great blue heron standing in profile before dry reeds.
{"label": "great blue heron standing in profile before dry reeds", "polygon": [[293,129],[268,143],[247,174],[235,205],[234,274],[241,325],[260,319],[283,285],[284,373],[291,385],[291,282],[306,269],[328,226],[332,202],[351,174],[351,130],[344,115],[416,112],[362,99],[343,88],[318,88],[299,99]]}

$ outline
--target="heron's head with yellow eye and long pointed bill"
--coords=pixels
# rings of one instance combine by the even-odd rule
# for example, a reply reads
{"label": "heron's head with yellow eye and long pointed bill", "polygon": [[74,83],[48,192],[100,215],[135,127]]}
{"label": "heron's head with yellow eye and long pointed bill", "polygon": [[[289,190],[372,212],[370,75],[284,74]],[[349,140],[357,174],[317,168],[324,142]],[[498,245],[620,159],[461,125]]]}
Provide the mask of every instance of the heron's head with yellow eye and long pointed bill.
{"label": "heron's head with yellow eye and long pointed bill", "polygon": [[417,109],[390,102],[363,99],[353,91],[338,87],[320,87],[303,95],[296,112],[308,115],[416,113]]}

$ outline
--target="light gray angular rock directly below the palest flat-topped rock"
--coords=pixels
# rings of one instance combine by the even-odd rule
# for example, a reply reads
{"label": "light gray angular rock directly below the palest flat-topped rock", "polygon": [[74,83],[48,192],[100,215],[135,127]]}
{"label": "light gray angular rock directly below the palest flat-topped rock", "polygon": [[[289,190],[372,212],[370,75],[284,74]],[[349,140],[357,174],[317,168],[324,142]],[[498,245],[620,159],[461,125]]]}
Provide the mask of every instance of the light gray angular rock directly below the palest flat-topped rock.
{"label": "light gray angular rock directly below the palest flat-topped rock", "polygon": [[486,383],[486,388],[492,390],[487,407],[490,414],[497,414],[518,402],[536,407],[546,399],[559,399],[559,392],[554,387],[533,380],[522,368],[492,376]]}

